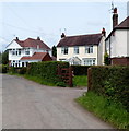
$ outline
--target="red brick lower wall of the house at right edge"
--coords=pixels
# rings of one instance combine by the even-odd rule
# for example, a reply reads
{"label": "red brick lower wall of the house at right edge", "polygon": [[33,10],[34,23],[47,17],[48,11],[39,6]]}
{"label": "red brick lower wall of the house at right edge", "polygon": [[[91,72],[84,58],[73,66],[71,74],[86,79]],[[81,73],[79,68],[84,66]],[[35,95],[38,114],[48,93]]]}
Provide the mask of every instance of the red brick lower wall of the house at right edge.
{"label": "red brick lower wall of the house at right edge", "polygon": [[114,66],[129,66],[129,57],[125,58],[112,58],[112,64]]}

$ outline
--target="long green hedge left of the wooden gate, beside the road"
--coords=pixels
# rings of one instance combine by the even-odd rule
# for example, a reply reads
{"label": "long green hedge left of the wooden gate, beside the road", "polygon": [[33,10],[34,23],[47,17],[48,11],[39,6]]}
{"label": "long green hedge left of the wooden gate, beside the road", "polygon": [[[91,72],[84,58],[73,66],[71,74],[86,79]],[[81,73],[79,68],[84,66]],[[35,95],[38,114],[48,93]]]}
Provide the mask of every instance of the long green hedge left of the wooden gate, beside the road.
{"label": "long green hedge left of the wooden gate, beside the road", "polygon": [[67,68],[69,67],[69,63],[58,61],[34,62],[28,66],[27,74],[44,79],[44,81],[54,83],[57,86],[67,86],[60,76],[57,75],[58,66],[60,68]]}

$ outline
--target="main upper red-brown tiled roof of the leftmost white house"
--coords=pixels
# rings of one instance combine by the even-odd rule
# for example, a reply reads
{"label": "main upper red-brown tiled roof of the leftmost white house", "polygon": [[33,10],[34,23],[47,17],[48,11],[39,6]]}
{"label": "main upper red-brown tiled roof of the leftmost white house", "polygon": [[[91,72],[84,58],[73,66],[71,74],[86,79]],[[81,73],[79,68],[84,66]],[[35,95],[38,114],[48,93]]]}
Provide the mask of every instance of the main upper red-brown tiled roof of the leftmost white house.
{"label": "main upper red-brown tiled roof of the leftmost white house", "polygon": [[37,46],[39,46],[39,48],[42,49],[46,49],[46,50],[50,50],[50,48],[40,39],[33,39],[33,38],[27,38],[25,40],[19,40],[19,39],[14,39],[21,47],[33,47],[33,48],[37,48]]}

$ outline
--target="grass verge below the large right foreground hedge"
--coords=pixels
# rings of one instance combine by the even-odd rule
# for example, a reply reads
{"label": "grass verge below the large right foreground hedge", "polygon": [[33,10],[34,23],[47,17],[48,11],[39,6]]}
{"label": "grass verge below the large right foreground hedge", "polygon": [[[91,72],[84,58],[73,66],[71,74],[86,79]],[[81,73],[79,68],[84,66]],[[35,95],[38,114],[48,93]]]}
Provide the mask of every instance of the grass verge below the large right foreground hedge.
{"label": "grass verge below the large right foreground hedge", "polygon": [[80,105],[118,129],[129,129],[129,112],[115,102],[93,92],[87,92],[75,99]]}

